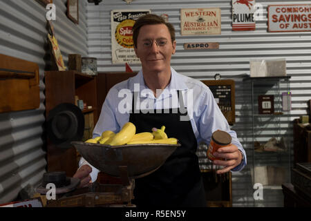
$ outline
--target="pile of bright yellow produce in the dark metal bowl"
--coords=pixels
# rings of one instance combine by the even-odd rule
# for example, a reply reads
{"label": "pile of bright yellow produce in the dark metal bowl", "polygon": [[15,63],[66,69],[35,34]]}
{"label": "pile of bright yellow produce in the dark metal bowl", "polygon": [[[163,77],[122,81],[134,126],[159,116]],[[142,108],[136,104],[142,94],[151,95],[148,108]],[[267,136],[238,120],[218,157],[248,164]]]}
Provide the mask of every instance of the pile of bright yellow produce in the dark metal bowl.
{"label": "pile of bright yellow produce in the dark metal bowl", "polygon": [[152,128],[152,133],[136,133],[136,127],[133,123],[124,124],[119,133],[113,131],[104,131],[102,136],[86,140],[86,143],[109,144],[111,146],[124,144],[177,144],[176,138],[168,138],[164,132],[165,126],[160,129]]}

